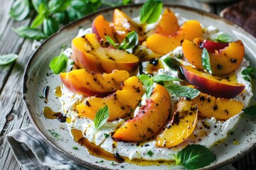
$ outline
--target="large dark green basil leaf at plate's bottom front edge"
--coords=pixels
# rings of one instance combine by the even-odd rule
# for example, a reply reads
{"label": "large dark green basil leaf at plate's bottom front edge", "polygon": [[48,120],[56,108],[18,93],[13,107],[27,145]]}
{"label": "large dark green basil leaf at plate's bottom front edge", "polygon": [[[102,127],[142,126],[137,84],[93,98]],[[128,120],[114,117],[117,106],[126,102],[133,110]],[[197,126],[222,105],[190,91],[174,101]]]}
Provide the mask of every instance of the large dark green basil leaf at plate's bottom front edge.
{"label": "large dark green basil leaf at plate's bottom front edge", "polygon": [[199,169],[216,160],[215,154],[203,145],[188,145],[177,154],[178,165],[186,169]]}

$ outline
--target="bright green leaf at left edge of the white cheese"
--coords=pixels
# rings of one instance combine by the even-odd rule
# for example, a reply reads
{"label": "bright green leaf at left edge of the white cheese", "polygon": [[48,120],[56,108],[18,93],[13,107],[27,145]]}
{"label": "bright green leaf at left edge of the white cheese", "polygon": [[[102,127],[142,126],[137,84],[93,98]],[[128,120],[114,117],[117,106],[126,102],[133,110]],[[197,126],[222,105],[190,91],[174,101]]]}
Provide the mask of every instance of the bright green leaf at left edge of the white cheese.
{"label": "bright green leaf at left edge of the white cheese", "polygon": [[63,54],[63,50],[61,51],[58,57],[54,57],[50,60],[49,67],[54,74],[60,74],[60,72],[64,72],[67,67],[68,57]]}

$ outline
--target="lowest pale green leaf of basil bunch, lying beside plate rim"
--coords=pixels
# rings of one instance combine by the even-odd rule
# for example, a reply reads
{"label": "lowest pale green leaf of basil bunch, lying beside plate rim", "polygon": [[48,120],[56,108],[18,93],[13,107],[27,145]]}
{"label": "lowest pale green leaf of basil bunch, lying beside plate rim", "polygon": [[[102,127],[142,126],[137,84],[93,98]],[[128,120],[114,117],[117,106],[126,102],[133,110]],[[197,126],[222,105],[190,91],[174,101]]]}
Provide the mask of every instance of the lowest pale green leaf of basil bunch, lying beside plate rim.
{"label": "lowest pale green leaf of basil bunch, lying beside plate rim", "polygon": [[31,38],[35,40],[47,38],[47,36],[44,33],[42,33],[41,30],[38,30],[36,28],[21,26],[19,28],[12,28],[12,30],[23,38]]}

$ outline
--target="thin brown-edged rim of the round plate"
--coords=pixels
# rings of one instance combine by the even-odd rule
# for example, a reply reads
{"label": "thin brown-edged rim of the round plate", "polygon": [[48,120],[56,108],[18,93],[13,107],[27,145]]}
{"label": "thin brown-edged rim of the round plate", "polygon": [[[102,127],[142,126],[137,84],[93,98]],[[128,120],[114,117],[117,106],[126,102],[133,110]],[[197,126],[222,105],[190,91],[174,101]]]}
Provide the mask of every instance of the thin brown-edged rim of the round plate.
{"label": "thin brown-edged rim of the round plate", "polygon": [[[130,5],[124,5],[124,6],[115,6],[115,7],[110,7],[110,8],[102,8],[99,11],[95,11],[94,13],[90,13],[87,16],[79,18],[78,20],[73,21],[73,22],[69,23],[66,26],[63,26],[62,28],[60,28],[60,30],[58,30],[58,32],[54,33],[53,35],[50,35],[49,38],[47,38],[46,40],[43,41],[43,43],[38,47],[38,49],[35,52],[33,52],[33,54],[31,55],[30,59],[28,60],[28,62],[26,64],[26,68],[25,68],[25,71],[24,71],[24,74],[23,74],[22,93],[23,93],[23,102],[25,103],[25,106],[26,106],[26,111],[27,111],[27,114],[28,114],[28,118],[31,120],[33,128],[35,128],[36,131],[38,132],[38,134],[41,135],[41,137],[43,137],[43,140],[46,140],[46,142],[48,142],[48,144],[50,144],[50,146],[53,147],[53,149],[55,149],[58,153],[65,155],[65,157],[68,157],[69,159],[72,159],[74,162],[80,164],[81,166],[86,166],[86,168],[90,168],[90,169],[108,169],[108,168],[103,167],[103,166],[97,166],[97,164],[86,162],[85,160],[80,159],[78,157],[75,157],[73,154],[70,154],[69,152],[61,149],[60,147],[55,145],[53,142],[51,142],[51,140],[48,139],[48,137],[43,133],[41,128],[38,127],[38,125],[36,124],[36,120],[35,120],[35,113],[33,113],[32,109],[31,109],[31,107],[33,107],[33,106],[31,106],[31,104],[28,102],[29,100],[28,100],[28,97],[27,97],[28,96],[27,95],[28,94],[28,87],[27,87],[28,71],[30,71],[31,67],[33,67],[33,60],[35,59],[38,52],[41,51],[43,45],[45,45],[47,42],[49,42],[52,38],[54,38],[56,35],[58,35],[62,31],[68,30],[68,29],[72,28],[73,26],[76,26],[79,23],[82,23],[84,20],[90,20],[90,18],[92,16],[97,16],[98,13],[113,11],[114,8],[119,8],[119,9],[122,9],[122,8],[139,8],[142,5],[143,5],[143,3],[130,4]],[[220,21],[225,22],[228,25],[235,26],[235,28],[242,31],[242,33],[245,33],[250,39],[252,39],[256,42],[256,38],[253,37],[252,35],[250,35],[250,33],[247,33],[247,31],[245,31],[243,28],[236,25],[235,23],[232,23],[231,21],[226,20],[225,18],[221,18],[220,16],[215,15],[214,13],[208,13],[208,12],[203,11],[203,10],[198,9],[198,8],[192,8],[192,7],[189,7],[189,6],[176,5],[176,4],[164,4],[163,7],[165,7],[165,8],[181,8],[181,9],[186,10],[186,11],[190,11],[190,12],[193,12],[193,13],[198,13],[199,15],[202,15],[202,16],[207,16],[207,17],[210,17],[210,18],[213,18],[213,19],[218,19]],[[236,154],[234,157],[230,157],[229,159],[225,159],[222,162],[219,162],[218,164],[210,164],[209,166],[206,166],[206,168],[203,168],[203,169],[216,169],[216,168],[219,168],[221,166],[231,164],[232,162],[235,162],[235,160],[240,159],[242,156],[244,156],[245,154],[250,152],[250,150],[253,147],[256,147],[256,140],[253,141],[253,142],[250,142],[249,146],[245,147],[245,149],[243,149],[241,152],[239,152],[240,154]]]}

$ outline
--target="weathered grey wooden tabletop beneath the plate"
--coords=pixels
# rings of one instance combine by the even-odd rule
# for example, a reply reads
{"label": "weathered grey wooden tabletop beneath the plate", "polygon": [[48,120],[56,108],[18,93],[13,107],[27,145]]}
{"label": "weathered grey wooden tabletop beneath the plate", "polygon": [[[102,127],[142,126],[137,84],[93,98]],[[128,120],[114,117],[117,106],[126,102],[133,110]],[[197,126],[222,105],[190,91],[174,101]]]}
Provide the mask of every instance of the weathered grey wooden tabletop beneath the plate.
{"label": "weathered grey wooden tabletop beneath the plate", "polygon": [[[191,5],[191,1],[189,4]],[[171,1],[176,2],[176,1]],[[15,63],[0,66],[0,169],[22,169],[9,146],[6,143],[6,134],[11,130],[24,128],[30,125],[25,105],[23,104],[22,83],[23,72],[32,55],[32,41],[18,37],[11,28],[28,26],[31,19],[15,22],[9,17],[9,11],[14,0],[0,0],[0,55],[9,53],[18,54]],[[225,4],[199,4],[206,11],[219,14],[226,6]],[[193,4],[193,3],[192,3]],[[198,4],[194,1],[194,4]],[[33,13],[31,13],[33,15]],[[233,163],[236,169],[256,169],[256,149]]]}

